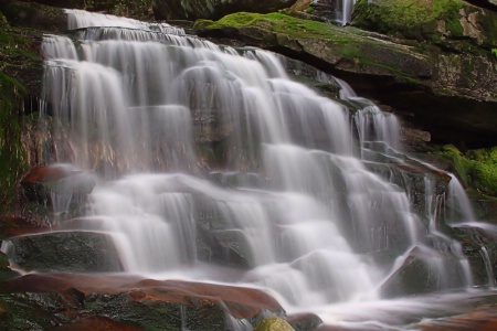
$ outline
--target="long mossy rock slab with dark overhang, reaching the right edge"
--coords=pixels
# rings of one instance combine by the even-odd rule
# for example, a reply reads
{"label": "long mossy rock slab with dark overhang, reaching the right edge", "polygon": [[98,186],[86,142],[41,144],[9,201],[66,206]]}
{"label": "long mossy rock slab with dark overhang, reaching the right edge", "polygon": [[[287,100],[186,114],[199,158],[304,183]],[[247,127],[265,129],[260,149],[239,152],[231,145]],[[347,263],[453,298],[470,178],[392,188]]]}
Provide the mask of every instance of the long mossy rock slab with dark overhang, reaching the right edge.
{"label": "long mossy rock slab with dark overhang, reaching the right edge", "polygon": [[497,142],[496,61],[477,43],[417,43],[282,13],[235,13],[199,20],[194,29],[313,63],[358,94],[411,113],[433,140]]}

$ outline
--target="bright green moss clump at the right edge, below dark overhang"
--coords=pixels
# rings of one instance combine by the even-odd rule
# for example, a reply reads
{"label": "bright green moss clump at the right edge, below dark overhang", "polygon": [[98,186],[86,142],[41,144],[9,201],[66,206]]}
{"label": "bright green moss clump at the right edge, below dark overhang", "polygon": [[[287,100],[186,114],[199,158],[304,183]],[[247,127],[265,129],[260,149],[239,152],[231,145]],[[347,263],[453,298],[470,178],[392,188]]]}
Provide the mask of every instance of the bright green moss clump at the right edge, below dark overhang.
{"label": "bright green moss clump at the right edge, below dark overhang", "polygon": [[497,147],[463,153],[454,146],[447,145],[437,154],[452,161],[453,171],[465,185],[497,196]]}

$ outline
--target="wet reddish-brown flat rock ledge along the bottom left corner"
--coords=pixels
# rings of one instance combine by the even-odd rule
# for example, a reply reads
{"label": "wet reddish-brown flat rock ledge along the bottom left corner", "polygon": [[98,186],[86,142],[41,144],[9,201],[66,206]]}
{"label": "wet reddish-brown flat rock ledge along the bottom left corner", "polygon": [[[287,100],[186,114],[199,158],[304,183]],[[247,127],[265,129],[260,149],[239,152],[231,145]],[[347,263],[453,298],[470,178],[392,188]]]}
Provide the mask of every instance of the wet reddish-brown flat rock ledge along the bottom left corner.
{"label": "wet reddish-brown flat rock ledge along the bottom left corner", "polygon": [[228,314],[255,327],[283,313],[255,289],[118,276],[29,275],[3,282],[0,292],[0,305],[8,305],[3,325],[11,330],[226,330],[234,327]]}

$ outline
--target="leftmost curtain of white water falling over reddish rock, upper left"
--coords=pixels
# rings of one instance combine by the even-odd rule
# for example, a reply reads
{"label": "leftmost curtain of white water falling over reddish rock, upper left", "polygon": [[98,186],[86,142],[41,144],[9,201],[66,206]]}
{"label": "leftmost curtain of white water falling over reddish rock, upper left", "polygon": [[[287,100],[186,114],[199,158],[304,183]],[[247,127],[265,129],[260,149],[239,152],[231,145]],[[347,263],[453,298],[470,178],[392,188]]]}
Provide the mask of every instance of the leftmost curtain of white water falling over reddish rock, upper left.
{"label": "leftmost curtain of white water falling over reddish rock, upper left", "polygon": [[133,146],[121,79],[106,66],[89,62],[57,60],[45,63],[44,99],[57,119],[60,162],[110,174],[129,169]]}

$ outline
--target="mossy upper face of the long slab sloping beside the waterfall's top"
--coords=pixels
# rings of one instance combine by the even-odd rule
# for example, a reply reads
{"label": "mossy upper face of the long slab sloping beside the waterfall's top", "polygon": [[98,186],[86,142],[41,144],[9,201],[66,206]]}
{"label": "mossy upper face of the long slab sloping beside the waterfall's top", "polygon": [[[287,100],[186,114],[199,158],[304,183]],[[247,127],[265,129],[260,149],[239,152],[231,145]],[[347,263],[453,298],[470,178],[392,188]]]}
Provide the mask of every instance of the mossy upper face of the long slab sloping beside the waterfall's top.
{"label": "mossy upper face of the long slab sloping beside the waterfall's top", "polygon": [[[417,47],[379,39],[360,29],[303,20],[283,13],[239,12],[219,21],[198,20],[200,35],[228,36],[251,45],[293,52],[329,63],[336,70],[391,77],[402,84],[423,85],[433,63]],[[328,68],[331,68],[328,66]]]}

